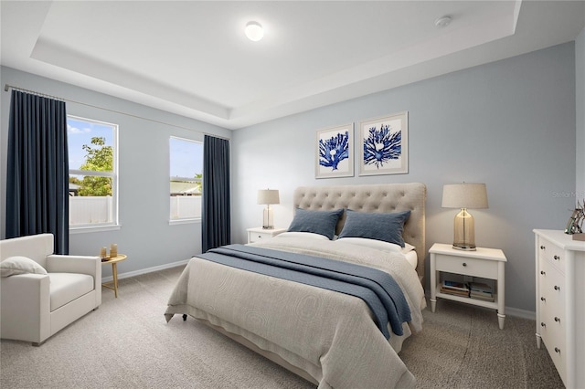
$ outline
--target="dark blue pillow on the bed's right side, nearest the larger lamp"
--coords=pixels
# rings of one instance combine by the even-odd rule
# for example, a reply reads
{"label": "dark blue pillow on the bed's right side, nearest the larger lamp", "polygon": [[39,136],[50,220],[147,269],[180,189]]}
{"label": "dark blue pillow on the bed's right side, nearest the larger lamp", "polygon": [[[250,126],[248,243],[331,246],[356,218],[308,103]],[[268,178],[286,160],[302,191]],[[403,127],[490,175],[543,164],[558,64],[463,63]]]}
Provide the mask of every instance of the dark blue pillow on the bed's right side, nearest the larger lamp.
{"label": "dark blue pillow on the bed's right side, nearest the larger lamp", "polygon": [[368,239],[378,239],[404,247],[402,232],[404,231],[404,223],[406,223],[409,216],[410,211],[393,214],[370,214],[348,209],[346,211],[346,224],[344,229],[341,230],[339,238],[367,237]]}

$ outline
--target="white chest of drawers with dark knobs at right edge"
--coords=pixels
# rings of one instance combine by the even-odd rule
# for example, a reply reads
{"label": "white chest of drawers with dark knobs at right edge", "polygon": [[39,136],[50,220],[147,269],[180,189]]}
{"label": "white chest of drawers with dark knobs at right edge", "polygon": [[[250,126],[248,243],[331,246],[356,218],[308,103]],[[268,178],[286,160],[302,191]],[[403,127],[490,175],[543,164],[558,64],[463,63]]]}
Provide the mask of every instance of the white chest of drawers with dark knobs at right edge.
{"label": "white chest of drawers with dark knobs at right edge", "polygon": [[585,242],[535,229],[537,347],[540,342],[568,388],[585,388]]}

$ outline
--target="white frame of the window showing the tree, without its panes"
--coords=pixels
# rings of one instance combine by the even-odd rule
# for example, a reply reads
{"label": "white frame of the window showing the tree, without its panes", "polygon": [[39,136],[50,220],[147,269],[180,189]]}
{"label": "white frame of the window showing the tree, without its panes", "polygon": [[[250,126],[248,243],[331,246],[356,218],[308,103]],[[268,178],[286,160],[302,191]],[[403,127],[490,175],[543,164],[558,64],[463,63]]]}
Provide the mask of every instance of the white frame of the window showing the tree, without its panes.
{"label": "white frame of the window showing the tree, without its panes", "polygon": [[[94,177],[110,177],[112,178],[112,221],[106,223],[90,223],[90,224],[83,224],[83,225],[69,225],[69,233],[72,234],[79,234],[79,233],[86,233],[86,232],[96,232],[96,231],[109,231],[109,230],[116,230],[120,229],[120,219],[119,219],[119,147],[118,147],[118,135],[120,131],[120,126],[115,123],[111,123],[108,121],[98,121],[95,119],[88,119],[83,118],[76,115],[67,115],[67,120],[69,119],[76,120],[76,121],[86,121],[89,123],[95,123],[99,125],[109,126],[112,127],[112,172],[96,172],[96,171],[89,171],[89,170],[80,170],[80,169],[69,169],[69,176],[71,175],[90,175]],[[69,145],[68,145],[69,148]],[[68,150],[69,152],[69,150]],[[70,212],[70,209],[69,209]]]}

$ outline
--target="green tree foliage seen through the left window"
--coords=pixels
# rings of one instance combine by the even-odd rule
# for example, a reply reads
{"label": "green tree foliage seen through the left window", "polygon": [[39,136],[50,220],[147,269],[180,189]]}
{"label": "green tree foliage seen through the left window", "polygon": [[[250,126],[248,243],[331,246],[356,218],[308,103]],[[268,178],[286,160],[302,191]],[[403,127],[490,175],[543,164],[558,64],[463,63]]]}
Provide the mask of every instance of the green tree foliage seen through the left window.
{"label": "green tree foliage seen through the left window", "polygon": [[[113,169],[113,149],[112,146],[105,145],[105,138],[91,138],[91,145],[84,144],[85,163],[80,166],[80,170],[92,172],[112,172]],[[78,180],[79,181],[79,180]],[[80,190],[78,195],[83,196],[105,196],[112,195],[112,178],[100,177],[95,175],[85,175],[80,181]]]}

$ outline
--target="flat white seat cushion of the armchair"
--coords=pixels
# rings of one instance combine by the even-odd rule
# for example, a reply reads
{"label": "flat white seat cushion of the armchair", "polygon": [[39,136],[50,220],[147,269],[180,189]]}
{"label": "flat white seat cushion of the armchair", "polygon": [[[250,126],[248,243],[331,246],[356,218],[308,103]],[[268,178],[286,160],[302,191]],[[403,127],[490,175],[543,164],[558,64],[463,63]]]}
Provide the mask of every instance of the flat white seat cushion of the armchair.
{"label": "flat white seat cushion of the armchair", "polygon": [[48,273],[51,312],[93,290],[93,277],[78,273]]}

